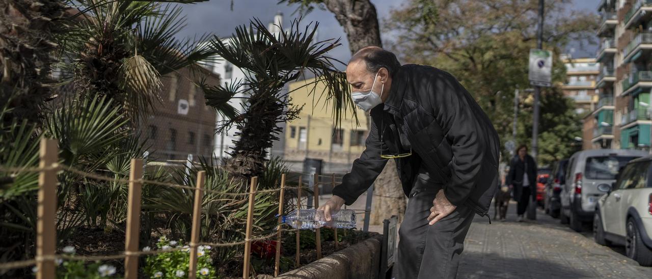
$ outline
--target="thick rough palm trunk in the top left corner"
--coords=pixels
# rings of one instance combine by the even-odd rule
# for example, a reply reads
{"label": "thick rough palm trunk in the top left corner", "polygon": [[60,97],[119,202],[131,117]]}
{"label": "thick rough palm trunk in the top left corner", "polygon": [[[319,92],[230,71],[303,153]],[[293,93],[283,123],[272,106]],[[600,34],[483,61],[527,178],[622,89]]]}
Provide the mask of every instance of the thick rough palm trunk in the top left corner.
{"label": "thick rough palm trunk in the top left corner", "polygon": [[63,14],[61,1],[0,1],[0,104],[8,104],[5,126],[13,118],[37,123],[50,98],[50,53]]}

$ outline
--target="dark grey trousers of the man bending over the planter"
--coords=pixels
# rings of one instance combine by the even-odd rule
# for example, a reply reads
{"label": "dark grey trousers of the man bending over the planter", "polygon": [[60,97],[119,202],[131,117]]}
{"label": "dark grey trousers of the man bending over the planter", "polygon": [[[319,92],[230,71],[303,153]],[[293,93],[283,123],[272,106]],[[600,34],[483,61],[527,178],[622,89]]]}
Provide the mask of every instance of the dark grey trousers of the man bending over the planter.
{"label": "dark grey trousers of the man bending over the planter", "polygon": [[461,205],[436,224],[428,225],[430,207],[441,186],[421,182],[409,194],[398,230],[396,279],[455,278],[473,211]]}

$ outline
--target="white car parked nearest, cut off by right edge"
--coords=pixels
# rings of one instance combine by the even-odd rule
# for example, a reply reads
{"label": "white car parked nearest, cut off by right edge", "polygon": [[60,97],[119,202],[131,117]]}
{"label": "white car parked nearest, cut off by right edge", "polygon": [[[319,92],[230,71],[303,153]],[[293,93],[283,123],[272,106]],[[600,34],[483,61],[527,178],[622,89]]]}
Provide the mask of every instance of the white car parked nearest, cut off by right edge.
{"label": "white car parked nearest, cut off by right edge", "polygon": [[602,245],[625,245],[628,257],[652,266],[652,157],[632,160],[602,196],[593,217],[593,238]]}

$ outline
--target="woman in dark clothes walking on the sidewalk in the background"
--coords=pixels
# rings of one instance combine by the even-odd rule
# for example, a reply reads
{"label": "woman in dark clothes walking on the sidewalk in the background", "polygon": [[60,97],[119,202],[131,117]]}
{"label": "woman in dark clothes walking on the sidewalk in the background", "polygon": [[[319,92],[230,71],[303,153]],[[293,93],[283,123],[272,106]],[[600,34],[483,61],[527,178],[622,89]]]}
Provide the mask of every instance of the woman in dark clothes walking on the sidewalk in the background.
{"label": "woman in dark clothes walking on the sidewalk in the background", "polygon": [[523,222],[529,200],[534,202],[537,196],[537,163],[527,154],[526,145],[520,145],[516,150],[509,167],[507,184],[513,189],[514,200],[518,202],[516,221]]}

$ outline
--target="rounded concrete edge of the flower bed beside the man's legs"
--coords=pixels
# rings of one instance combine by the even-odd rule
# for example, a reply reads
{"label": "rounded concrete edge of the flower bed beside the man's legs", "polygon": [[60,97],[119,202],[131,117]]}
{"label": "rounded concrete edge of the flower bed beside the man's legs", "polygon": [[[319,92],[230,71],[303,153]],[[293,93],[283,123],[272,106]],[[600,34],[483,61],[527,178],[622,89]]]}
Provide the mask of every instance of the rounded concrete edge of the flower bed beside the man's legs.
{"label": "rounded concrete edge of the flower bed beside the man's legs", "polygon": [[317,261],[280,274],[276,278],[346,279],[378,278],[382,235],[323,257]]}

